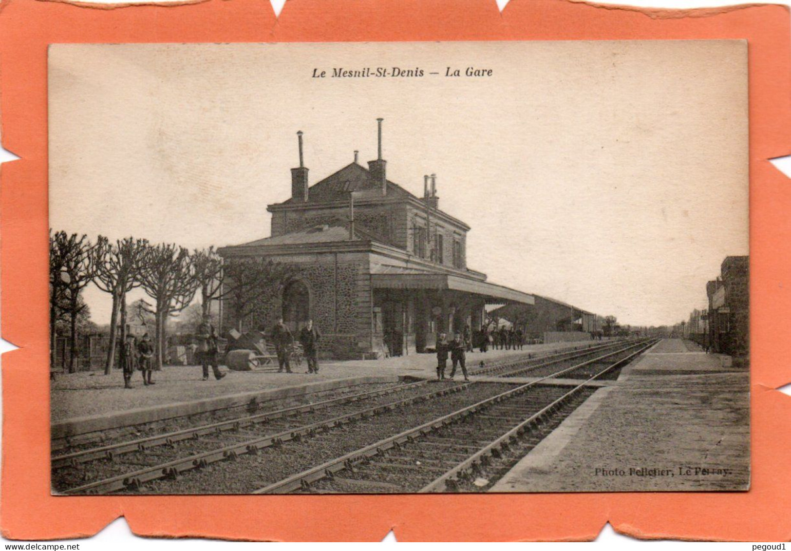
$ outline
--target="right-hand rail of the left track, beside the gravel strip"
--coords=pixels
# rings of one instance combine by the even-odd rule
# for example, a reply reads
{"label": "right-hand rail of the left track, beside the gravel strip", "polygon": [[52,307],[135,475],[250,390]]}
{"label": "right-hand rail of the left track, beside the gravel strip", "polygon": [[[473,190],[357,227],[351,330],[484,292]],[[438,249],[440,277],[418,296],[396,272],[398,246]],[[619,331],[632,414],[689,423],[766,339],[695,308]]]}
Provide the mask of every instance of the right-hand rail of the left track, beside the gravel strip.
{"label": "right-hand rail of the left track, beside the gravel strip", "polygon": [[173,459],[159,465],[138,469],[131,473],[124,473],[115,477],[106,478],[104,480],[90,482],[86,485],[69,488],[63,490],[60,493],[66,496],[84,493],[95,494],[100,490],[105,493],[110,493],[125,488],[139,488],[144,482],[153,481],[160,478],[172,480],[184,471],[200,469],[207,466],[209,463],[218,462],[223,459],[233,460],[241,454],[256,454],[258,453],[258,450],[271,446],[281,446],[282,443],[289,440],[300,441],[302,436],[310,437],[316,435],[316,433],[319,431],[335,428],[342,424],[350,423],[353,420],[365,419],[369,416],[378,415],[381,412],[392,411],[404,405],[410,405],[419,401],[426,401],[435,397],[445,396],[450,393],[460,392],[461,390],[466,390],[469,388],[469,386],[469,384],[460,384],[456,386],[450,386],[442,390],[435,390],[430,393],[418,394],[418,396],[412,396],[404,398],[403,400],[388,402],[388,404],[377,405],[373,408],[362,409],[358,412],[347,413],[346,415],[333,417],[331,419],[319,421],[318,423],[291,428],[289,430],[281,431],[272,435],[261,436],[259,438],[246,440],[244,442],[236,443],[230,446],[220,447],[214,450],[202,452],[200,454],[189,455],[184,458]]}

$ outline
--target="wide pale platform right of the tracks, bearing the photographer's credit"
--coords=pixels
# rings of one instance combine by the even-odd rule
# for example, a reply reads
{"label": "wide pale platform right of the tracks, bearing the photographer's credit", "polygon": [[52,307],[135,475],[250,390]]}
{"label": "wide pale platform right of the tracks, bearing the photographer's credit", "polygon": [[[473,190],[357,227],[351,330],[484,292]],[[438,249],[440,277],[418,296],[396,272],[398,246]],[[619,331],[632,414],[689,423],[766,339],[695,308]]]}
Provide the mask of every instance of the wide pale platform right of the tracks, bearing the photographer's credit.
{"label": "wide pale platform right of the tracks, bearing the photographer's credit", "polygon": [[661,340],[490,491],[749,489],[749,373],[725,360]]}

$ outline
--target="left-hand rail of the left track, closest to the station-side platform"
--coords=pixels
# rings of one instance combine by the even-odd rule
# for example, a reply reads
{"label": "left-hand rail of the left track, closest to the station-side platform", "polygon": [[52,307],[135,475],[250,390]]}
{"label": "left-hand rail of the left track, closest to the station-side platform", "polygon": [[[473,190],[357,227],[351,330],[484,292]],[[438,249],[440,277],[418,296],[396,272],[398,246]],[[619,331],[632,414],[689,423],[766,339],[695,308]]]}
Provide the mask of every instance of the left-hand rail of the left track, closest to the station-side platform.
{"label": "left-hand rail of the left track, closest to the station-side platform", "polygon": [[364,393],[351,394],[337,398],[313,402],[312,404],[296,405],[290,408],[277,409],[271,412],[257,413],[252,416],[240,417],[217,423],[200,425],[198,427],[185,428],[180,431],[167,432],[161,435],[147,436],[145,438],[129,440],[109,444],[102,447],[89,448],[88,450],[75,451],[70,454],[55,455],[51,458],[51,469],[62,469],[64,467],[77,466],[81,463],[95,461],[97,459],[113,459],[116,455],[125,454],[132,451],[145,451],[151,447],[170,446],[173,443],[199,436],[217,434],[222,431],[233,431],[239,428],[249,427],[255,424],[267,423],[270,420],[280,419],[294,413],[314,412],[316,409],[324,409],[333,405],[344,405],[354,401],[360,401],[371,397],[384,396],[397,393],[401,390],[412,389],[417,386],[426,385],[426,381],[408,383],[406,385],[389,386],[379,390],[369,390]]}

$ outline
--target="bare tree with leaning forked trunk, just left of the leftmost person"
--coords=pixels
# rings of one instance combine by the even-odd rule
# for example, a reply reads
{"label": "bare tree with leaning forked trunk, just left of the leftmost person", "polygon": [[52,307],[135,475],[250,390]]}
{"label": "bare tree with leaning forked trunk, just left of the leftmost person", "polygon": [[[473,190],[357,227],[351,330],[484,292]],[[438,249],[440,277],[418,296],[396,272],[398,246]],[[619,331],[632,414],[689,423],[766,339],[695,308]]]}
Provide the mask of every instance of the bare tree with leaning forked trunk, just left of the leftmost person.
{"label": "bare tree with leaning forked trunk, just left of the leftmost person", "polygon": [[115,346],[117,342],[116,327],[121,317],[121,341],[126,337],[126,296],[127,292],[138,287],[138,275],[143,253],[148,241],[144,239],[123,238],[111,244],[108,238],[99,236],[94,249],[96,278],[93,283],[102,291],[112,295],[112,312],[110,314],[110,344],[107,359],[104,363],[104,374],[110,374],[115,363]]}

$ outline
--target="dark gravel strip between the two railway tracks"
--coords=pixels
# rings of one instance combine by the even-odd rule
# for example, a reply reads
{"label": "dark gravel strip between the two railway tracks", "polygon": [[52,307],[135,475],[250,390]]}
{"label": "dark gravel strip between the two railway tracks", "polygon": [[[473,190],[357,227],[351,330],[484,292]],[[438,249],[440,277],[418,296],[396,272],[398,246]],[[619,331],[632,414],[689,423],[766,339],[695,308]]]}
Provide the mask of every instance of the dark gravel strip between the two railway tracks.
{"label": "dark gravel strip between the two railway tracks", "polygon": [[184,473],[177,481],[153,481],[141,493],[249,493],[509,388],[513,386],[471,385],[464,392],[345,424],[301,442],[286,442],[279,449],[264,448],[257,455],[240,455],[234,462],[213,463],[205,469]]}

